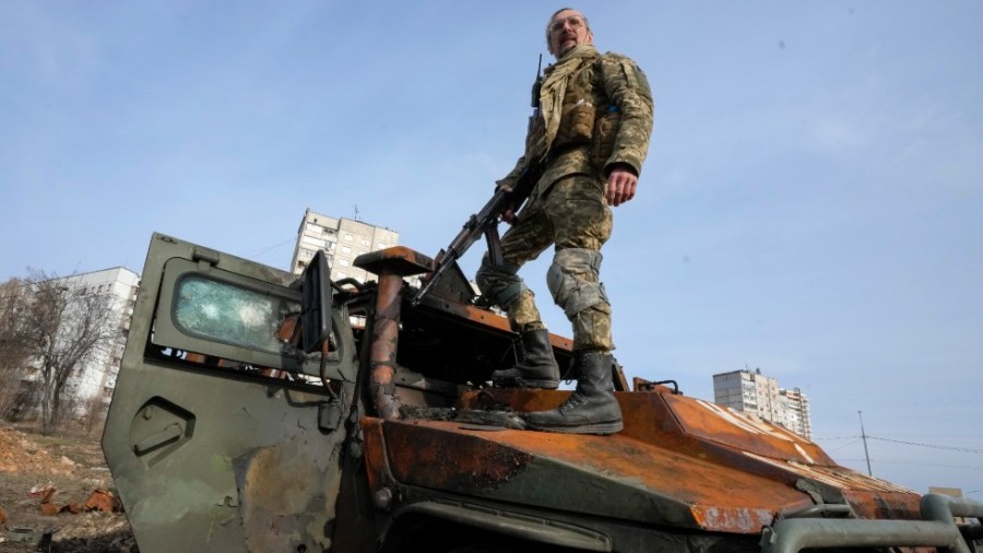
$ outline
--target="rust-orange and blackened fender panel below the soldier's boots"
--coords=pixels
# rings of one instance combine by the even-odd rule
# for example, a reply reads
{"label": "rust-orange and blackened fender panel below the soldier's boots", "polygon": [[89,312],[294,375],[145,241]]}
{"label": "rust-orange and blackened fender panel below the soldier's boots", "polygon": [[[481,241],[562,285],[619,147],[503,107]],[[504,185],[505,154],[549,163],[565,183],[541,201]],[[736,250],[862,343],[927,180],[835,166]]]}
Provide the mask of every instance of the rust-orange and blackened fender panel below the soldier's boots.
{"label": "rust-orange and blackened fender panel below the soldier's boots", "polygon": [[488,431],[438,421],[387,421],[382,432],[396,481],[530,506],[756,533],[779,506],[808,503],[777,482],[618,435]]}

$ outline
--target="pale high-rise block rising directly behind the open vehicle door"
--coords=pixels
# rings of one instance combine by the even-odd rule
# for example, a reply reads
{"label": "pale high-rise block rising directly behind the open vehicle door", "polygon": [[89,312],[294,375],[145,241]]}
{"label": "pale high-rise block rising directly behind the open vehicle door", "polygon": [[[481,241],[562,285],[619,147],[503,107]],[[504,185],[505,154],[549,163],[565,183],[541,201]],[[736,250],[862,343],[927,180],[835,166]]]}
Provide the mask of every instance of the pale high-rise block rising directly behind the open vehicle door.
{"label": "pale high-rise block rising directly behind the open vehicle door", "polygon": [[291,271],[300,274],[319,249],[328,256],[331,280],[365,282],[367,273],[353,264],[356,257],[399,245],[400,233],[352,219],[334,219],[307,209],[297,230]]}

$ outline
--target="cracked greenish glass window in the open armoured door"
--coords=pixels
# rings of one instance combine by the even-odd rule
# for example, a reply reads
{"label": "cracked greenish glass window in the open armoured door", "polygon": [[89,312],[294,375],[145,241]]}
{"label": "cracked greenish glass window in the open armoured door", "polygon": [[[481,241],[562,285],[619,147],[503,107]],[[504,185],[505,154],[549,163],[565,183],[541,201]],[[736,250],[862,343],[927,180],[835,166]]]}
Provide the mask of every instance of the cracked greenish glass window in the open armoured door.
{"label": "cracked greenish glass window in the open armoured door", "polygon": [[284,317],[300,311],[296,302],[198,275],[177,289],[174,320],[182,332],[269,353],[281,353]]}

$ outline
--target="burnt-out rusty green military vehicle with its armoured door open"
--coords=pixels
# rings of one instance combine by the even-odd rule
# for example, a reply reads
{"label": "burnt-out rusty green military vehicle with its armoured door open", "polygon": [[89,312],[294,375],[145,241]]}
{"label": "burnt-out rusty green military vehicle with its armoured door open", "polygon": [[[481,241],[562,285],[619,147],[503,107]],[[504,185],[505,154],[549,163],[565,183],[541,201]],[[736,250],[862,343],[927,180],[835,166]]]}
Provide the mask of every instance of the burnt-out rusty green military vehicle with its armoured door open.
{"label": "burnt-out rusty green military vehicle with its armoured door open", "polygon": [[[517,336],[395,247],[333,282],[156,234],[103,436],[140,551],[970,551],[983,505],[616,369],[625,427],[523,430]],[[550,336],[561,365],[570,341]],[[966,517],[966,518],[962,518]],[[916,549],[922,548],[922,549]]]}

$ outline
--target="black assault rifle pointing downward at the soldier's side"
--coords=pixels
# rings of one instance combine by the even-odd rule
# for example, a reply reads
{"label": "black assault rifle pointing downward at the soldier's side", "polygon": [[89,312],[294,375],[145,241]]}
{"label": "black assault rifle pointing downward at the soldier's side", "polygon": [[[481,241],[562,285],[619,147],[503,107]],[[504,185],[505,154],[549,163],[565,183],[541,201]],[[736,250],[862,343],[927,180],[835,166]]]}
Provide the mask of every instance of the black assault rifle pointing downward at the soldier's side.
{"label": "black assault rifle pointing downward at the soldier's side", "polygon": [[467,248],[472,246],[482,235],[488,244],[489,261],[493,266],[501,264],[501,244],[498,237],[498,221],[501,212],[510,204],[514,211],[519,210],[522,202],[529,198],[533,186],[540,180],[538,170],[526,167],[516,181],[516,188],[508,191],[504,188],[495,190],[495,195],[488,200],[488,203],[481,211],[471,215],[464,223],[464,227],[454,236],[442,256],[438,256],[434,264],[434,271],[429,278],[421,286],[419,291],[410,299],[413,306],[419,305],[424,296],[443,274],[457,264],[458,259],[464,256]]}

